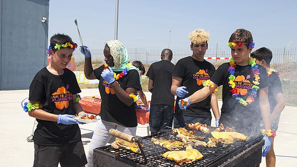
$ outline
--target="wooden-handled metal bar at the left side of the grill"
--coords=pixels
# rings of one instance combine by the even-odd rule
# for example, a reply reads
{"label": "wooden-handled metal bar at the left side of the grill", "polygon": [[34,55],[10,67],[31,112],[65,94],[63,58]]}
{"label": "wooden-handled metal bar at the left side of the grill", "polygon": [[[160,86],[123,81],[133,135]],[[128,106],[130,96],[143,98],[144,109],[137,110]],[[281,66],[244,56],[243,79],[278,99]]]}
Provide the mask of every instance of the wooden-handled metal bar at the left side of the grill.
{"label": "wooden-handled metal bar at the left side of the grill", "polygon": [[110,129],[110,130],[108,131],[108,133],[109,133],[111,136],[115,136],[115,137],[117,137],[117,138],[123,139],[123,140],[125,140],[125,141],[130,142],[130,143],[132,143],[132,142],[135,141],[135,142],[137,143],[139,149],[140,149],[141,155],[142,155],[143,158],[144,158],[144,163],[147,163],[148,160],[146,159],[146,155],[145,155],[144,152],[143,152],[142,146],[141,146],[141,144],[140,144],[138,138],[136,138],[136,137],[134,137],[134,136],[131,136],[131,135],[128,135],[128,134],[126,134],[126,133],[120,132],[120,131],[115,130],[115,129]]}

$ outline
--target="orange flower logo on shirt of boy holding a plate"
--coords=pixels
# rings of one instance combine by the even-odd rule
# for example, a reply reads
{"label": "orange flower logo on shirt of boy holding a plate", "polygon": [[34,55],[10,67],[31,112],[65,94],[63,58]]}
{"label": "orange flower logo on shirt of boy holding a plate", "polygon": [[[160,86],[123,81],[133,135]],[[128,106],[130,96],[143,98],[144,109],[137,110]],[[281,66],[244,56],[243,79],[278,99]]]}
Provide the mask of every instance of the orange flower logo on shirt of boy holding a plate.
{"label": "orange flower logo on shirt of boy holding a plate", "polygon": [[50,102],[54,102],[56,108],[62,110],[64,107],[68,108],[69,100],[72,100],[72,93],[68,91],[69,84],[66,85],[66,89],[64,86],[61,86],[57,89],[55,93],[50,96]]}

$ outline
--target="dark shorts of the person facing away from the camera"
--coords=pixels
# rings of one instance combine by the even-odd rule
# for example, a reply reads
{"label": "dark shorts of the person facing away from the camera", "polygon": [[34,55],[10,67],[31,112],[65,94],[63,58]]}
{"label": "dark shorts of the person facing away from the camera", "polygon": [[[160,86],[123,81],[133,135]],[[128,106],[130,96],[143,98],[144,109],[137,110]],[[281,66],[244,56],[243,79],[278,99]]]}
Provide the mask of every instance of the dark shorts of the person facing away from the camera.
{"label": "dark shorts of the person facing away from the camera", "polygon": [[[154,133],[169,130],[173,121],[173,106],[156,104],[151,105],[149,113],[149,130]],[[168,126],[168,127],[166,127]]]}

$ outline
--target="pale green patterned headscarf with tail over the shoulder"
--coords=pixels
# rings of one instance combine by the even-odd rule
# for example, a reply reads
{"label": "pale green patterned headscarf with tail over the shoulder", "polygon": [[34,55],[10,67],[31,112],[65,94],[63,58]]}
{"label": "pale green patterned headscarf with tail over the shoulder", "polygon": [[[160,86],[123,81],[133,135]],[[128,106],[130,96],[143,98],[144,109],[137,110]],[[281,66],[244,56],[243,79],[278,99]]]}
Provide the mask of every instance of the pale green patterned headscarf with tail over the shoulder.
{"label": "pale green patterned headscarf with tail over the shoulder", "polygon": [[[122,44],[122,42],[118,40],[107,41],[107,42],[104,42],[104,44],[108,45],[108,47],[110,48],[110,54],[111,56],[113,56],[114,66],[111,67],[111,69],[113,71],[124,71],[126,68],[125,65],[130,61],[129,55],[127,53],[127,50],[124,44]],[[129,70],[136,70],[138,72],[139,81],[140,81],[140,84],[142,84],[141,78],[140,78],[140,70],[133,65],[130,66]]]}

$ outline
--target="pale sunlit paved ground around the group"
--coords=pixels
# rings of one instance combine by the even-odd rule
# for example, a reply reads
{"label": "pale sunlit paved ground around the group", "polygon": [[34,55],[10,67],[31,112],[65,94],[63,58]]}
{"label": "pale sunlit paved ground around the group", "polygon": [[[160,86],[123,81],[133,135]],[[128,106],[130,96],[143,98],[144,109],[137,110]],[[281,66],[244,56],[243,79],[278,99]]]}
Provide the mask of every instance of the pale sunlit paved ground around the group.
{"label": "pale sunlit paved ground around the group", "polygon": [[[34,143],[26,138],[32,133],[34,118],[28,116],[21,108],[21,102],[27,100],[29,90],[0,91],[0,166],[32,166],[34,160]],[[151,94],[145,93],[147,99]],[[82,89],[81,96],[99,95],[98,89]],[[296,99],[297,100],[297,99]],[[219,108],[222,101],[219,101]],[[276,166],[296,166],[297,164],[297,107],[286,106],[282,112],[279,130],[275,138]],[[215,121],[212,120],[212,126]],[[80,125],[85,151],[88,151],[92,132],[96,123]],[[137,136],[146,136],[146,125],[137,127]],[[260,166],[265,166],[262,158]]]}

